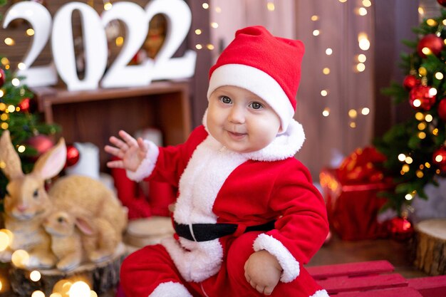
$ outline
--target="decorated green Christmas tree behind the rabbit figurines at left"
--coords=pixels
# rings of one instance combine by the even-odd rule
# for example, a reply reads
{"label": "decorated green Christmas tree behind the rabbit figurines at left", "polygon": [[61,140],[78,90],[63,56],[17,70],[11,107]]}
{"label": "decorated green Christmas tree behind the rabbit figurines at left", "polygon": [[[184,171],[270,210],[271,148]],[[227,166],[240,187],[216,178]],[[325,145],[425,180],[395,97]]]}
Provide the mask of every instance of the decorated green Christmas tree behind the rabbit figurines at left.
{"label": "decorated green Christmas tree behind the rabbit figurines at left", "polygon": [[[48,148],[51,140],[44,135],[58,132],[57,125],[48,125],[39,120],[31,93],[9,70],[9,61],[0,56],[0,135],[9,130],[11,141],[21,157],[22,170],[30,172],[36,156],[43,147]],[[0,167],[5,166],[0,160]],[[8,180],[0,170],[0,199],[5,196]]]}

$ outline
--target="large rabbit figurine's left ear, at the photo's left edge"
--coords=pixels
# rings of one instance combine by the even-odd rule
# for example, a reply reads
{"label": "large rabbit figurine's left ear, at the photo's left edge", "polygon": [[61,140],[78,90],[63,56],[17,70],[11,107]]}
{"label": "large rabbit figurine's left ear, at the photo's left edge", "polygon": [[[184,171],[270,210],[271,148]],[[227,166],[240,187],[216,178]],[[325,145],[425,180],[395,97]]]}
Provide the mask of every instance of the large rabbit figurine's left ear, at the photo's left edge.
{"label": "large rabbit figurine's left ear, at the photo's left edge", "polygon": [[0,168],[9,180],[24,175],[21,171],[20,157],[12,145],[9,130],[4,130],[0,137]]}

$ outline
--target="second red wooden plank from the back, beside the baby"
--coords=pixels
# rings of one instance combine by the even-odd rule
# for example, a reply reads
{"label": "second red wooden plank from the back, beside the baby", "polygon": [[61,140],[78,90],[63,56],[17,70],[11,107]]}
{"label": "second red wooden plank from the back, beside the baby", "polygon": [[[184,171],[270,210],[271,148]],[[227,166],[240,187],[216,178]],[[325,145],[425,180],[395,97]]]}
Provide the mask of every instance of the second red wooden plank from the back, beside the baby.
{"label": "second red wooden plank from the back, beside the baby", "polygon": [[329,294],[408,286],[408,281],[397,273],[378,276],[333,277],[321,279],[317,282]]}

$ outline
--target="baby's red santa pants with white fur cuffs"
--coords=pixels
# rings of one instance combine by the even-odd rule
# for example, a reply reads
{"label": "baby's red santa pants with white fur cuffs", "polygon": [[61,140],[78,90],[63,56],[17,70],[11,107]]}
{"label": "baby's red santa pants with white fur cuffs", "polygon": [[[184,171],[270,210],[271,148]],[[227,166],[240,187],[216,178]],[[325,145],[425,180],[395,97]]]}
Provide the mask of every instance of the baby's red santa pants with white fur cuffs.
{"label": "baby's red santa pants with white fur cuffs", "polygon": [[[222,268],[217,274],[207,278],[201,283],[187,282],[175,268],[165,248],[158,244],[145,246],[145,248],[130,254],[121,267],[121,286],[128,297],[147,297],[161,283],[182,283],[192,296],[202,297],[254,297],[264,296],[257,292],[244,277],[244,264],[254,252],[252,244],[259,232],[248,232],[242,236],[234,237],[228,243],[227,252],[224,254]],[[308,275],[304,267],[300,267],[299,276],[290,283],[279,281],[271,296],[327,296],[325,291]],[[157,294],[157,296],[161,296]],[[166,297],[187,296],[174,293],[164,295]]]}

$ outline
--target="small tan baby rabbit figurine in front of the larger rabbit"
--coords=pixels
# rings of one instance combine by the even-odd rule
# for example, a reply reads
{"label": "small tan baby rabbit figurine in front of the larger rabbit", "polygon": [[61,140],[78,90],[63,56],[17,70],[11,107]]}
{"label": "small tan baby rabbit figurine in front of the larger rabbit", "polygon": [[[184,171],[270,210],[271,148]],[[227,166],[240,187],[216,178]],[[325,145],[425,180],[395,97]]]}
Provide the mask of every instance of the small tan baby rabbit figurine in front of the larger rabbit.
{"label": "small tan baby rabbit figurine in front of the larger rabbit", "polygon": [[43,220],[43,227],[51,236],[51,250],[58,259],[58,269],[70,271],[87,260],[82,235],[93,234],[87,220],[73,217],[68,212],[55,211]]}

